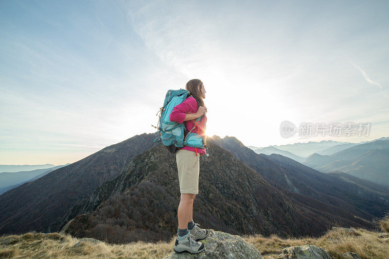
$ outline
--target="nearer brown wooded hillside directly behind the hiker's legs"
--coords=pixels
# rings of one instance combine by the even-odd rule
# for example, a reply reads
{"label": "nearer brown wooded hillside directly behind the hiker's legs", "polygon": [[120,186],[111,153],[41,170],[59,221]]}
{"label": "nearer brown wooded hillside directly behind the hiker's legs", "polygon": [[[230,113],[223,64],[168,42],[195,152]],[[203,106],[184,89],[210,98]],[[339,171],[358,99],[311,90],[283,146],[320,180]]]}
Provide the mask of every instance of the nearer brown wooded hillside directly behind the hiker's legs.
{"label": "nearer brown wooded hillside directly behind the hiker's legs", "polygon": [[[236,235],[283,237],[318,236],[334,222],[366,227],[292,202],[230,152],[212,142],[208,146],[211,155],[201,157],[199,193],[194,203],[194,220],[202,227]],[[176,234],[180,195],[177,164],[175,155],[163,146],[134,157],[128,171],[103,184],[103,189],[110,193],[109,198],[96,204],[96,210],[73,219],[65,226],[65,233],[112,243],[166,241]]]}

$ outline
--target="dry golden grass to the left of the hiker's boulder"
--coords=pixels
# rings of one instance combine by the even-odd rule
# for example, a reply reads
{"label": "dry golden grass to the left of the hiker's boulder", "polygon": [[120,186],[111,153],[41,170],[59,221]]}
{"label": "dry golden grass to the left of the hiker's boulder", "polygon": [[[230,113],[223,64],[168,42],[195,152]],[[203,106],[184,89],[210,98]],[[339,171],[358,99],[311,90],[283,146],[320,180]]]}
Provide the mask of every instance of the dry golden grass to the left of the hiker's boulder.
{"label": "dry golden grass to the left of the hiker's boulder", "polygon": [[173,251],[171,242],[132,242],[128,244],[91,244],[59,233],[28,232],[0,237],[0,258],[162,258]]}

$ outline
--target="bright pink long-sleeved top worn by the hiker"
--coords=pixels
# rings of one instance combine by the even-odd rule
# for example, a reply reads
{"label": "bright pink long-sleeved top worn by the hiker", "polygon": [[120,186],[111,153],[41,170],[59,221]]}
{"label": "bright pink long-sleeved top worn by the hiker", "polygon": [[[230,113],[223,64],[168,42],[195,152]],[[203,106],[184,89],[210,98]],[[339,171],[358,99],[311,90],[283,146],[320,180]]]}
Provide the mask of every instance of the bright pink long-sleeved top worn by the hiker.
{"label": "bright pink long-sleeved top worn by the hiker", "polygon": [[[192,96],[185,99],[181,104],[177,104],[172,113],[169,116],[170,121],[178,121],[178,123],[182,123],[186,117],[187,113],[196,113],[197,112],[197,102],[196,99]],[[190,131],[195,125],[196,119],[185,121],[185,127],[188,131]],[[205,128],[206,128],[207,116],[204,114],[201,118],[201,121],[196,125],[192,132],[197,133],[205,138]],[[205,148],[199,149],[194,147],[183,147],[182,149],[190,150],[193,152],[200,153],[201,155],[207,154]]]}

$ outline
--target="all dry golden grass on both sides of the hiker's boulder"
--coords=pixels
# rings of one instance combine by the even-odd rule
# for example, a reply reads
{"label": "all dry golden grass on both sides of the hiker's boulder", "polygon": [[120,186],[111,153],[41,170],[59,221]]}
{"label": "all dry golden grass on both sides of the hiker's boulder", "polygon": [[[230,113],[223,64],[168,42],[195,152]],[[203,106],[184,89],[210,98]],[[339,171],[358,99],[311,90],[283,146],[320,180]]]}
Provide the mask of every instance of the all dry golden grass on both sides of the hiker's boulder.
{"label": "all dry golden grass on both sides of the hiker's boulder", "polygon": [[[354,252],[362,259],[389,258],[389,240],[378,238],[379,232],[362,228],[328,230],[320,238],[288,238],[276,235],[265,238],[261,235],[242,236],[257,247],[265,259],[275,259],[282,249],[292,245],[313,244],[327,250],[334,259],[342,259],[342,253]],[[175,237],[170,242],[132,242],[122,245],[99,242],[82,242],[79,239],[58,233],[29,232],[23,235],[0,237],[0,258],[162,258],[173,251]]]}

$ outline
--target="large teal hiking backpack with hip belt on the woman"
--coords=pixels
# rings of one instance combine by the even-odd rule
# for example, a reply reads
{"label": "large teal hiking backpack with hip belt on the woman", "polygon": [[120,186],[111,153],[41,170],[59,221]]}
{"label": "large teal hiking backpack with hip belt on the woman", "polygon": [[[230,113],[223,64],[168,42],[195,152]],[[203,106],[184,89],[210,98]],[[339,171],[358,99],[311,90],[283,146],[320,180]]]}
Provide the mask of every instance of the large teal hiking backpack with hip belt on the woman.
{"label": "large teal hiking backpack with hip belt on the woman", "polygon": [[159,112],[157,113],[157,115],[159,114],[158,126],[151,125],[159,131],[159,137],[154,139],[154,142],[156,143],[162,140],[162,144],[173,154],[176,154],[184,146],[200,149],[205,148],[207,150],[206,156],[208,156],[206,140],[203,136],[192,132],[203,116],[196,119],[195,125],[190,131],[186,129],[185,122],[178,123],[169,119],[173,107],[181,104],[190,96],[192,96],[190,92],[185,89],[167,91],[163,106],[159,108]]}

